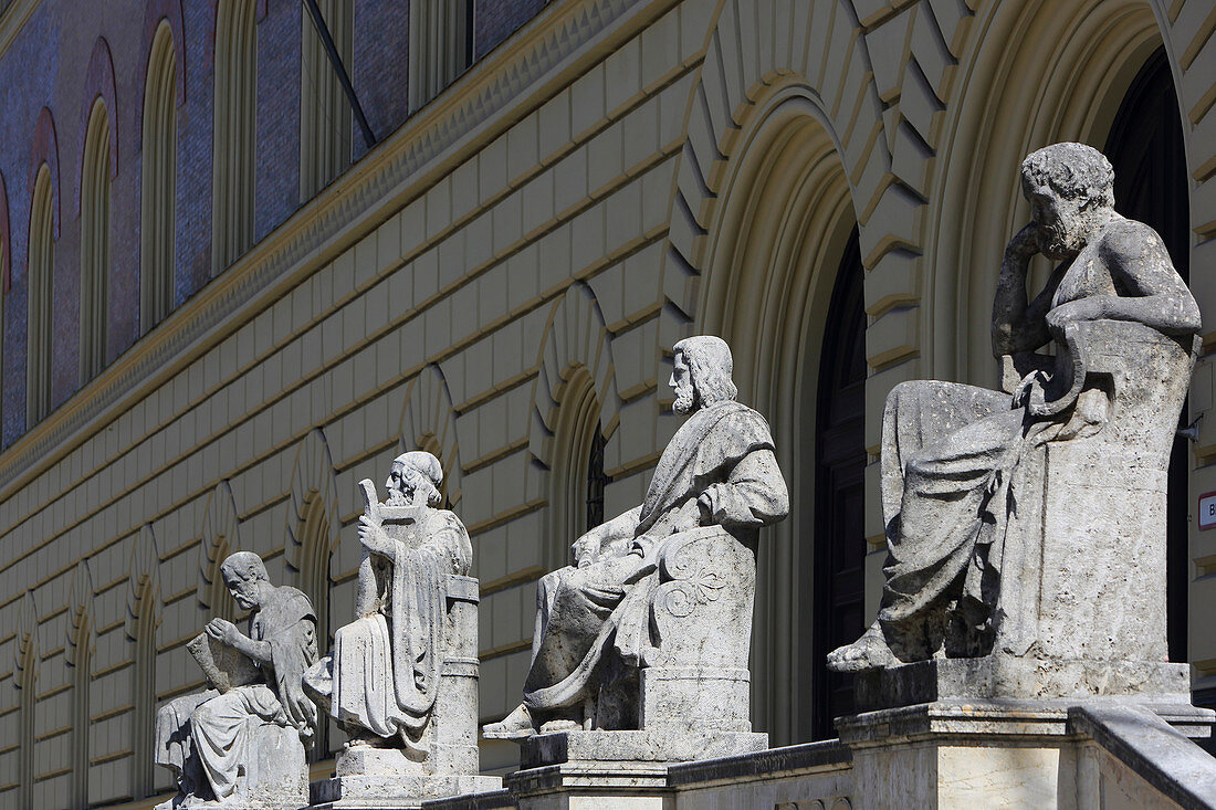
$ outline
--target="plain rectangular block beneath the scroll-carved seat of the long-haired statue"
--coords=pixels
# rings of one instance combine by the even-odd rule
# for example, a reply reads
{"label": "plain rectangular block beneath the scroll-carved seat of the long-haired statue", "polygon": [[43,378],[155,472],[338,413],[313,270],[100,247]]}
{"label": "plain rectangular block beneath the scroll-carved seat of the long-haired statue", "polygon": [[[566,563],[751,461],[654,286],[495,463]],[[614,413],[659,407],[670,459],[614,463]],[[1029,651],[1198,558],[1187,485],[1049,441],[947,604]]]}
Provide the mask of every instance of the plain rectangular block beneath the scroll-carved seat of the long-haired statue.
{"label": "plain rectangular block beneath the scroll-carved seat of the long-haired statue", "polygon": [[642,729],[751,731],[747,669],[651,666],[641,673]]}

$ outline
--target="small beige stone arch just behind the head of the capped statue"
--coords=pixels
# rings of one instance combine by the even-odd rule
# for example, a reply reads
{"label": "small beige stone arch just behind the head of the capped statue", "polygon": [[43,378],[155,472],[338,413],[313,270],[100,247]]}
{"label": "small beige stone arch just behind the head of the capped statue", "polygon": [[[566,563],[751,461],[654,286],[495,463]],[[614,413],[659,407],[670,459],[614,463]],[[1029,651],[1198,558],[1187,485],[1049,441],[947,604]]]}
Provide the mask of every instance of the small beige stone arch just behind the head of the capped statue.
{"label": "small beige stone arch just behind the head of the capped statue", "polygon": [[426,450],[444,467],[444,495],[455,506],[461,499],[460,440],[456,409],[443,370],[429,365],[405,390],[401,403],[399,450]]}

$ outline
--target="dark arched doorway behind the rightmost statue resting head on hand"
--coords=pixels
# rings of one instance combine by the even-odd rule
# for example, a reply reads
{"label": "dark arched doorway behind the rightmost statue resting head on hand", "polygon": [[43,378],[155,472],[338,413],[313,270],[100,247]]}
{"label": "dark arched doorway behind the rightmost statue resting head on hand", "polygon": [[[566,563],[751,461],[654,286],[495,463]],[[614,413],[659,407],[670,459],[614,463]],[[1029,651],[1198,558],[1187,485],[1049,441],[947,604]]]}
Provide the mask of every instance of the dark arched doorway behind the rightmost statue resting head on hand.
{"label": "dark arched doorway behind the rightmost statue resting head on hand", "polygon": [[[1190,281],[1189,197],[1178,99],[1165,49],[1154,51],[1119,106],[1105,144],[1115,169],[1115,208],[1149,225],[1165,242],[1173,266]],[[1188,418],[1183,409],[1183,422]],[[1170,456],[1166,508],[1166,617],[1170,660],[1187,660],[1189,531],[1188,448],[1178,438]],[[1216,694],[1209,696],[1216,702]]]}

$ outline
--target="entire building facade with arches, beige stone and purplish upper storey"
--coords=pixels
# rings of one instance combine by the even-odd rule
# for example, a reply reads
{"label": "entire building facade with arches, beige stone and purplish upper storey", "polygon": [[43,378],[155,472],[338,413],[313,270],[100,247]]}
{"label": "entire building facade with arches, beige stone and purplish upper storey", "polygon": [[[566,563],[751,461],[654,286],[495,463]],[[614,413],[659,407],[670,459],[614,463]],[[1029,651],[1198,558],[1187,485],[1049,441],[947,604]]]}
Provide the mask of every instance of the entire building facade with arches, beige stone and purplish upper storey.
{"label": "entire building facade with arches, beige stone and purplish upper storey", "polygon": [[[997,383],[996,271],[1046,144],[1107,151],[1212,348],[1212,0],[319,7],[371,141],[300,4],[0,4],[5,806],[168,792],[151,721],[202,687],[185,642],[235,612],[220,561],[261,555],[332,636],[355,483],[402,449],[441,459],[473,536],[501,718],[535,580],[641,500],[677,426],[671,345],[702,332],[793,494],[760,542],[753,719],[775,746],[832,736],[849,685],[823,653],[882,581],[883,399]],[[1205,355],[1188,423],[1214,395]],[[1216,420],[1194,439],[1171,658],[1211,705]]]}

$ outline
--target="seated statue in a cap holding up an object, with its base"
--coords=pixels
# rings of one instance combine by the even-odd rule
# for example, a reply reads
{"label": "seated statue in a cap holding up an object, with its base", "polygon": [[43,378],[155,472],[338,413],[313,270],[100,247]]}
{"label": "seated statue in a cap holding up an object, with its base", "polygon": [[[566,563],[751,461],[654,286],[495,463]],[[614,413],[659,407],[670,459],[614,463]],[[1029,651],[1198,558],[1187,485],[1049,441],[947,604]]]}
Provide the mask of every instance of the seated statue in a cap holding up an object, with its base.
{"label": "seated statue in a cap holding up an object, with its base", "polygon": [[360,482],[358,618],[304,674],[350,737],[336,778],[316,786],[322,803],[412,806],[501,786],[477,776],[478,581],[468,531],[438,508],[443,478],[435,456],[415,451],[393,461],[383,504]]}

